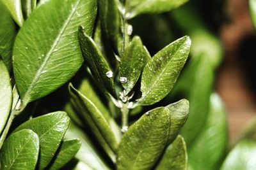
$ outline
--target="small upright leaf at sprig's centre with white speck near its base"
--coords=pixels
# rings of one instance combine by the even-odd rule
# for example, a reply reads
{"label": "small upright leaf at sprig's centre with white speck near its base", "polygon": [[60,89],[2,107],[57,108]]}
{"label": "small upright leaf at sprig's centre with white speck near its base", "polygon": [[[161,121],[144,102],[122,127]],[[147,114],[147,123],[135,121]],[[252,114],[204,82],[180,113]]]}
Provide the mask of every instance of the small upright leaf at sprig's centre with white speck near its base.
{"label": "small upright leaf at sprig's centre with white speck near its base", "polygon": [[140,77],[143,67],[150,59],[151,57],[144,48],[140,37],[134,36],[129,46],[125,48],[120,63],[119,76],[127,78],[127,82],[122,83],[126,91],[125,95],[132,90]]}

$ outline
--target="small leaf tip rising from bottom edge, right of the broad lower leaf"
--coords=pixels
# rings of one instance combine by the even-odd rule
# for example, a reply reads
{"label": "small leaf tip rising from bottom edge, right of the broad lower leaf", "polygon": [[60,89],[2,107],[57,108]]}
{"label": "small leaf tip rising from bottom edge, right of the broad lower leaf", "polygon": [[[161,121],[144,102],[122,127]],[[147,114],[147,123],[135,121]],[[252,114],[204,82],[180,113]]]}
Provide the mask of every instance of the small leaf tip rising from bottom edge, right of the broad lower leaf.
{"label": "small leaf tip rising from bottom edge, right of the broad lower leaf", "polygon": [[186,143],[182,136],[177,136],[175,141],[166,148],[156,170],[186,170],[188,169],[188,155]]}

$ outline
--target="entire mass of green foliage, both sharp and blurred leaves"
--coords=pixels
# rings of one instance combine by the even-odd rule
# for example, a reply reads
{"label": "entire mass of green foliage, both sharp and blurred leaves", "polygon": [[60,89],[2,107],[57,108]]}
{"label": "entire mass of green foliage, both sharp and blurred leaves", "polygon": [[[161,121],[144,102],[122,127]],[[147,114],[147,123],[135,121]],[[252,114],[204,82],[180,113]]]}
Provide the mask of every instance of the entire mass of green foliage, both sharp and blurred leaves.
{"label": "entire mass of green foliage, both sharp and blurred leaves", "polygon": [[254,167],[253,123],[224,161],[223,49],[195,2],[0,0],[1,169]]}

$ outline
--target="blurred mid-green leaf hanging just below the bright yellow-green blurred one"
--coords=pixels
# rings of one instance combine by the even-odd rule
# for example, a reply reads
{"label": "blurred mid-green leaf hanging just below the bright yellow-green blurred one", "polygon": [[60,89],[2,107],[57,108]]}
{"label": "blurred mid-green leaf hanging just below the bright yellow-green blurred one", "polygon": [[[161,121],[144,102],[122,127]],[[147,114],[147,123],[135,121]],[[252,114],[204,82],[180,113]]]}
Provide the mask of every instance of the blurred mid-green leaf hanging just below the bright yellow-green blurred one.
{"label": "blurred mid-green leaf hanging just below the bright yellow-green blurred one", "polygon": [[191,63],[180,77],[178,85],[184,90],[190,105],[188,120],[181,131],[188,148],[200,134],[207,120],[212,82],[213,69],[204,53],[191,59]]}

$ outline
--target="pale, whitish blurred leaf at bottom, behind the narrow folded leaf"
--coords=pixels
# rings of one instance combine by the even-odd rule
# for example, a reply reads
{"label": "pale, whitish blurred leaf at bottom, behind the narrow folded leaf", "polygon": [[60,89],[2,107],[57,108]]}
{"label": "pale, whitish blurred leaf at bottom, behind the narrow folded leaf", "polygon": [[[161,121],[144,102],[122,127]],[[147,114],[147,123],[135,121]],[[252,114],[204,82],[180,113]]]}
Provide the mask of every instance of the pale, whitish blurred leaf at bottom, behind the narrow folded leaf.
{"label": "pale, whitish blurred leaf at bottom, behind the narrow folded leaf", "polygon": [[[76,127],[72,122],[70,122],[67,133],[65,134],[65,139],[79,138],[82,145],[76,154],[76,159],[80,160],[84,164],[88,165],[92,169],[109,169],[104,162],[104,159],[100,157],[100,154],[96,152],[96,148],[93,146],[91,136],[87,136],[81,129]],[[78,167],[84,167],[83,164]]]}

